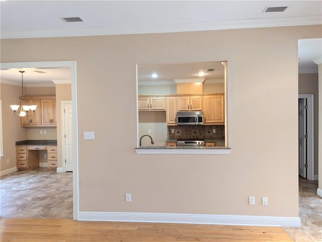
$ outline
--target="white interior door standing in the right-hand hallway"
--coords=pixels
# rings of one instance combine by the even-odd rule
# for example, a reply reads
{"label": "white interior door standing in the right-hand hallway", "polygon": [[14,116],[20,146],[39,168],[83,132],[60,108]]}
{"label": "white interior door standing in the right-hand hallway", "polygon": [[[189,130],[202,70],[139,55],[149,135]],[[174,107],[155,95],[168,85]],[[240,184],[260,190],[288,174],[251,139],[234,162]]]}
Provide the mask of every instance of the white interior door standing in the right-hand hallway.
{"label": "white interior door standing in the right-hand hallway", "polygon": [[298,174],[306,178],[306,99],[298,99]]}

